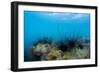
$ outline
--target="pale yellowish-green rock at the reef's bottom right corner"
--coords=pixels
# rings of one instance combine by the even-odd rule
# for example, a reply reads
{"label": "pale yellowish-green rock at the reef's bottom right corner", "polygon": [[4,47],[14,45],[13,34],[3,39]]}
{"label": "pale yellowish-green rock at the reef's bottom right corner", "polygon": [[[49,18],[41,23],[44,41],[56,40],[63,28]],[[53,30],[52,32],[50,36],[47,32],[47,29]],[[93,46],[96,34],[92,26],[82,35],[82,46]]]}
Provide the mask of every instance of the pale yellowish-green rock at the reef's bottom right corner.
{"label": "pale yellowish-green rock at the reef's bottom right corner", "polygon": [[65,52],[63,59],[86,59],[90,57],[89,49],[79,49],[75,48],[72,51]]}

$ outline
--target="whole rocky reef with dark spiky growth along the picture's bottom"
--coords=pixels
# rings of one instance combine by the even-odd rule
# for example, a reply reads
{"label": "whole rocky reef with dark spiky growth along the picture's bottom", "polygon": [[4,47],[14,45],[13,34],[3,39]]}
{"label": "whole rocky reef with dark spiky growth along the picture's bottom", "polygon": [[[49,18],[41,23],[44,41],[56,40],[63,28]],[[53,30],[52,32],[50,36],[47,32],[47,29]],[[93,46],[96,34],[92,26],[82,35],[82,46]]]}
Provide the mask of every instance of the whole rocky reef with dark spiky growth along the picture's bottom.
{"label": "whole rocky reef with dark spiky growth along the picture's bottom", "polygon": [[31,48],[33,61],[89,59],[90,41],[85,38],[53,41],[39,39]]}

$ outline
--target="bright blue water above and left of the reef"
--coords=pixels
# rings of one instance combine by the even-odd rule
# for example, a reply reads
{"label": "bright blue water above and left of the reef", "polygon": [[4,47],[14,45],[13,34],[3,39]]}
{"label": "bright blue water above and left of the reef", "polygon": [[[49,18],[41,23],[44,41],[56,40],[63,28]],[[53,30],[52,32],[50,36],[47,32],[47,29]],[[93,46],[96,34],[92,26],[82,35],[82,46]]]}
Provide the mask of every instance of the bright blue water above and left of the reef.
{"label": "bright blue water above and left of the reef", "polygon": [[31,61],[30,49],[42,37],[90,38],[90,14],[24,11],[24,58]]}

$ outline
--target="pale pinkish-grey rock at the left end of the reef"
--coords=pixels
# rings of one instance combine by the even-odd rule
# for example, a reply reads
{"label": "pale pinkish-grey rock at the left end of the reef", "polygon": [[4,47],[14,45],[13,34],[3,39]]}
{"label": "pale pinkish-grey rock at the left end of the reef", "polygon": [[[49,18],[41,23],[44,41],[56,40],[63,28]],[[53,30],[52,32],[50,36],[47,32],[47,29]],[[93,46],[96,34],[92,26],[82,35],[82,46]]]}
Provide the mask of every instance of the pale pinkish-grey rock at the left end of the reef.
{"label": "pale pinkish-grey rock at the left end of the reef", "polygon": [[35,48],[33,48],[34,58],[39,58],[38,60],[47,60],[47,54],[51,49],[50,44],[37,44]]}

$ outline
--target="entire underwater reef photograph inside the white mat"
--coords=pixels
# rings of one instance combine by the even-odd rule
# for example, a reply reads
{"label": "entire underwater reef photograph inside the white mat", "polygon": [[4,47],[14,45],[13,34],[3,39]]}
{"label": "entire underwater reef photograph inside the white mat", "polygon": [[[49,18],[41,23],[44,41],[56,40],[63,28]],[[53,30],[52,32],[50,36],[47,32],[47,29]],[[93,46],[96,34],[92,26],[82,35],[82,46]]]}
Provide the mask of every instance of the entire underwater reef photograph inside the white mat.
{"label": "entire underwater reef photograph inside the white mat", "polygon": [[24,62],[90,58],[90,14],[24,11]]}

